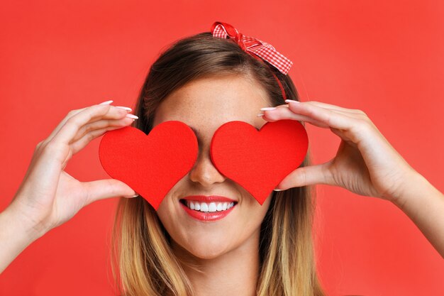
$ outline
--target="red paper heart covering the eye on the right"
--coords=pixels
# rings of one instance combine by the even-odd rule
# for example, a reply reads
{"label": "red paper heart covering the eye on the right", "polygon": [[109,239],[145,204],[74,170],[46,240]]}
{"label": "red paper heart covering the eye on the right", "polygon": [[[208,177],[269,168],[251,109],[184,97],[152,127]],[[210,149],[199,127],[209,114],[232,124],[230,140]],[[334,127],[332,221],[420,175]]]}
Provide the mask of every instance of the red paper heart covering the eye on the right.
{"label": "red paper heart covering the eye on the right", "polygon": [[221,125],[211,139],[211,160],[263,204],[272,190],[304,161],[309,138],[291,119],[267,122],[260,131],[243,121]]}

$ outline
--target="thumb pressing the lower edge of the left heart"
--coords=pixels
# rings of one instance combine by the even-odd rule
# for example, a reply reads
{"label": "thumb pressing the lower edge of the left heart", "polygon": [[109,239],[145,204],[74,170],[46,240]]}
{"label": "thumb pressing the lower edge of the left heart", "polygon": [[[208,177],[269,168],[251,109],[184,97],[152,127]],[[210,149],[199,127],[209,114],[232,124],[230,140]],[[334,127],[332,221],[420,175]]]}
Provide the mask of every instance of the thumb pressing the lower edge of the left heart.
{"label": "thumb pressing the lower edge of the left heart", "polygon": [[87,204],[110,197],[138,197],[138,193],[116,179],[96,180],[82,183],[87,192]]}

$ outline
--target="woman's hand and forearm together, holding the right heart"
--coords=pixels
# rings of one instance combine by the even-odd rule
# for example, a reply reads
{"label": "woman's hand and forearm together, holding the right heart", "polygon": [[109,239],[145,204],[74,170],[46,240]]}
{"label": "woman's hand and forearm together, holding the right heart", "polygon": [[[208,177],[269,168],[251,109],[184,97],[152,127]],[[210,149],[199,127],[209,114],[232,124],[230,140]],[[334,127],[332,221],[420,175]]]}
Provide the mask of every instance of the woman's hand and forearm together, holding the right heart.
{"label": "woman's hand and forearm together, holding the right heart", "polygon": [[294,170],[278,189],[326,184],[386,199],[414,221],[444,258],[444,195],[399,155],[364,111],[322,102],[286,102],[264,111],[265,120],[305,121],[329,128],[341,141],[334,158]]}

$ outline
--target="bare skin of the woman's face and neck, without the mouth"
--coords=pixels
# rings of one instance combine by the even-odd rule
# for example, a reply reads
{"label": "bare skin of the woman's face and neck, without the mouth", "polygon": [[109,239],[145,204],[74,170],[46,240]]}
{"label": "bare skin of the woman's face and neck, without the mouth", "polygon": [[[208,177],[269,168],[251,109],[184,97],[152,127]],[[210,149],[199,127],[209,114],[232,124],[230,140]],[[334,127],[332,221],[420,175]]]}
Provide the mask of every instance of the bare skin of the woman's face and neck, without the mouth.
{"label": "bare skin of the woman's face and neck, without the mouth", "polygon": [[[243,187],[218,172],[209,151],[214,131],[228,121],[245,121],[261,128],[267,121],[257,117],[257,110],[269,104],[259,84],[229,75],[191,82],[170,94],[156,111],[154,126],[179,120],[198,133],[199,155],[194,167],[157,210],[172,237],[174,253],[204,271],[184,265],[197,295],[255,295],[260,224],[271,194],[261,206]],[[223,219],[198,221],[179,203],[180,198],[194,194],[222,195],[238,204]]]}

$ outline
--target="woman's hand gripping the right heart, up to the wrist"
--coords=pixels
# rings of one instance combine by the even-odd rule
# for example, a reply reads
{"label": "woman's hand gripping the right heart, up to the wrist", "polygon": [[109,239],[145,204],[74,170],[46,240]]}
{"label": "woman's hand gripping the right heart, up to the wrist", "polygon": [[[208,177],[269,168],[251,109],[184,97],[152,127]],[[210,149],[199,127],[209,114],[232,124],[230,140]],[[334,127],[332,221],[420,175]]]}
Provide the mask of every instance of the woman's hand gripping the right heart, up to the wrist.
{"label": "woman's hand gripping the right heart, up to the wrist", "polygon": [[359,109],[345,109],[321,102],[287,100],[274,110],[262,110],[263,119],[294,119],[330,128],[341,138],[335,157],[320,165],[300,167],[279,183],[277,190],[326,184],[356,194],[396,202],[417,173],[396,152],[382,133]]}

